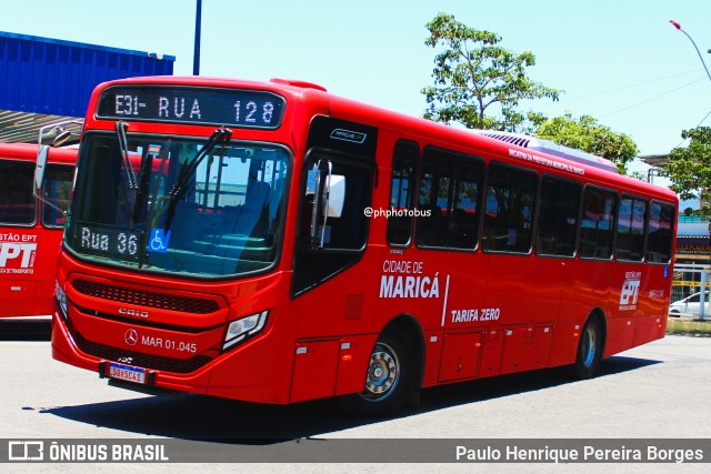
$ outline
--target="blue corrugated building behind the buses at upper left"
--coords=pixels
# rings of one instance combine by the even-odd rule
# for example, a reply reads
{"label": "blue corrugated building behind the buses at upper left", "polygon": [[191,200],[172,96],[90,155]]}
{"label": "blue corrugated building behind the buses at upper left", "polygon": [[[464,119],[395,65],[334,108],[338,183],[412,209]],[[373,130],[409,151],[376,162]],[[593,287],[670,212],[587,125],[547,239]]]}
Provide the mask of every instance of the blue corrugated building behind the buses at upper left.
{"label": "blue corrugated building behind the buses at upper left", "polygon": [[37,143],[39,129],[83,119],[94,87],[172,75],[176,57],[0,31],[0,142]]}

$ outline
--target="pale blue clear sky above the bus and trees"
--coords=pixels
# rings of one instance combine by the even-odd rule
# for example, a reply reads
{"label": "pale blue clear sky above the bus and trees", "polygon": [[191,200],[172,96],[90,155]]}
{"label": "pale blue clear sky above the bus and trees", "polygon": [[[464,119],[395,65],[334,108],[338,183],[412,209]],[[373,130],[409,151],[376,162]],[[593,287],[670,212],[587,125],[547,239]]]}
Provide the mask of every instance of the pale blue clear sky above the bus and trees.
{"label": "pale blue clear sky above the bus and trees", "polygon": [[[2,0],[0,31],[174,56],[193,68],[196,0]],[[528,102],[549,117],[589,114],[668,153],[681,131],[711,127],[711,1],[684,0],[202,0],[200,74],[300,79],[330,92],[421,115],[438,12],[531,51],[532,80],[564,91]]]}

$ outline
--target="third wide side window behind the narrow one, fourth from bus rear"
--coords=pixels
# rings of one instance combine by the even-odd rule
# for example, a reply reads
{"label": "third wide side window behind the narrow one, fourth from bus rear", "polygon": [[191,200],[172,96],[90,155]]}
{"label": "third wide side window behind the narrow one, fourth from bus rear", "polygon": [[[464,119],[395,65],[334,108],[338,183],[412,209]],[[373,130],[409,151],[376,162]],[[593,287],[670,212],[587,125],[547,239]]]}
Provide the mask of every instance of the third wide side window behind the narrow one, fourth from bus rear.
{"label": "third wide side window behind the narrow one, fourth from bus rear", "polygon": [[535,253],[559,256],[575,254],[581,191],[580,183],[543,177]]}

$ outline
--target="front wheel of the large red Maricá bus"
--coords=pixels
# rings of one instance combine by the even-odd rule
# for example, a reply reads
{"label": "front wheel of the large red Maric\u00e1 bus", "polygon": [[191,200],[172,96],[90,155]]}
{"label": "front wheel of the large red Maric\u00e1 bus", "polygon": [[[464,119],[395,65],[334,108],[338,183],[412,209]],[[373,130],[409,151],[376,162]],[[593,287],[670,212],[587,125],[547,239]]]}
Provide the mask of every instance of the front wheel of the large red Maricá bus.
{"label": "front wheel of the large red Maric\u00e1 bus", "polygon": [[370,354],[363,391],[341,399],[353,416],[394,413],[414,392],[415,359],[412,345],[398,330],[383,332]]}

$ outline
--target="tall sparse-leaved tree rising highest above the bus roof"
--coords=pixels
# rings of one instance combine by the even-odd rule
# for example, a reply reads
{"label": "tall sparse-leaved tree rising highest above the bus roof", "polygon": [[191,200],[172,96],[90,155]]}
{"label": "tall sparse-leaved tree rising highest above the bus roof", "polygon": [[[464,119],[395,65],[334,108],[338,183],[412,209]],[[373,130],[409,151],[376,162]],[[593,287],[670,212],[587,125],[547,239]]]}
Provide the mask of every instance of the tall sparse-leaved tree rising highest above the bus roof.
{"label": "tall sparse-leaved tree rising highest above the bus roof", "polygon": [[434,85],[422,89],[429,104],[425,119],[514,131],[525,120],[517,111],[519,101],[555,101],[562,92],[531,81],[527,68],[535,64],[533,53],[515,54],[500,47],[495,33],[469,28],[449,13],[439,13],[427,29],[424,43],[443,51],[434,57]]}

